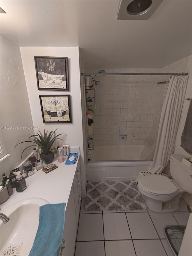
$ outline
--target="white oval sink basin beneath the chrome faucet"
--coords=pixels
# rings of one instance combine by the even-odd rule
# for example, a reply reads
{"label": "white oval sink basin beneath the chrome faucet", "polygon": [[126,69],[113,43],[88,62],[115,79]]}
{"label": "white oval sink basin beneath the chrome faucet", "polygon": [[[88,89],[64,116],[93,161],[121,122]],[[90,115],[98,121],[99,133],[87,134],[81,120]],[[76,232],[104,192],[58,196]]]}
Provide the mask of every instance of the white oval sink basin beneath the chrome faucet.
{"label": "white oval sink basin beneath the chrome faucet", "polygon": [[10,220],[0,220],[0,255],[3,255],[7,244],[18,245],[21,242],[21,256],[29,255],[39,224],[39,207],[47,204],[42,198],[28,198],[1,210]]}

